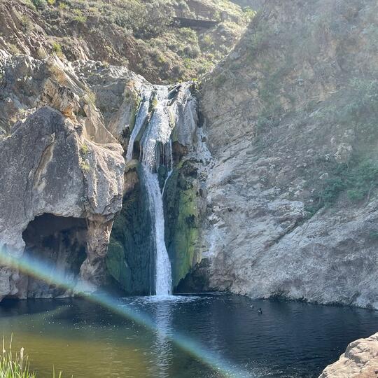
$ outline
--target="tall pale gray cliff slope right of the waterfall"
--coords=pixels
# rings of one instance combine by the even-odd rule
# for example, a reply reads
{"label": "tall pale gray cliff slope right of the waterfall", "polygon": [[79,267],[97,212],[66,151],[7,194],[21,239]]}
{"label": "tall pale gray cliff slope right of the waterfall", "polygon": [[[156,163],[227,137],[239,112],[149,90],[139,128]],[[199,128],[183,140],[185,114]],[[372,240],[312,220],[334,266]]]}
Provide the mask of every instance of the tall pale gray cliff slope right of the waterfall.
{"label": "tall pale gray cliff slope right of the waterfall", "polygon": [[208,288],[378,308],[377,10],[267,1],[204,80]]}

